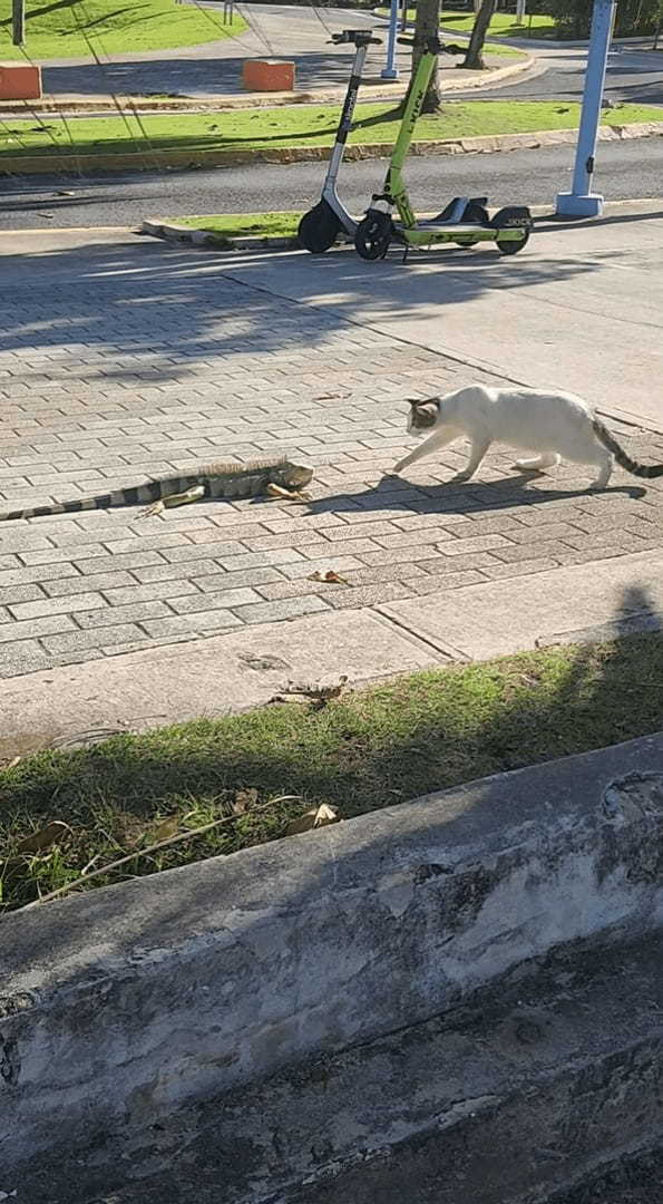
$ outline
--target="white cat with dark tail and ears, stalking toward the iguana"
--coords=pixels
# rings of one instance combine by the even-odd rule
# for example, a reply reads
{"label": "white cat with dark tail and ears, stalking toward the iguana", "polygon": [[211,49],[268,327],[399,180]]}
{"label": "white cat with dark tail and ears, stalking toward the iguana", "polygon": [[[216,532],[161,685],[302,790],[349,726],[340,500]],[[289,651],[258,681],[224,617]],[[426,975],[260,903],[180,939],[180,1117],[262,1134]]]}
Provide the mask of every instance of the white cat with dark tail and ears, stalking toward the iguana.
{"label": "white cat with dark tail and ears, stalking toward the iguana", "polygon": [[519,468],[551,468],[561,458],[591,464],[598,468],[591,489],[605,489],[614,460],[635,477],[663,476],[663,465],[632,460],[591,406],[570,393],[468,385],[444,397],[410,397],[409,402],[408,431],[432,433],[398,461],[395,473],[464,436],[470,443],[469,462],[454,480],[469,480],[495,442],[537,453],[532,460],[516,461]]}

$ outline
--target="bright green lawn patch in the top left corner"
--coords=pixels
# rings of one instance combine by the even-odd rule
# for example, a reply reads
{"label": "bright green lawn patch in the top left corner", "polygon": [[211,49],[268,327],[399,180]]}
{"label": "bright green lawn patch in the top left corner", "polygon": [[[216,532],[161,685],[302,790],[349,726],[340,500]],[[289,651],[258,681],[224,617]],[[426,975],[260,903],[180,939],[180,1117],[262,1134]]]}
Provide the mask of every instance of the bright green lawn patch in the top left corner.
{"label": "bright green lawn patch in the top left corner", "polygon": [[[120,54],[129,51],[162,51],[196,46],[230,37],[245,29],[236,17],[224,25],[223,12],[177,5],[174,0],[52,0],[29,4],[25,20],[25,52],[31,59],[66,59],[95,52]],[[25,58],[12,45],[12,0],[0,0],[0,59]]]}

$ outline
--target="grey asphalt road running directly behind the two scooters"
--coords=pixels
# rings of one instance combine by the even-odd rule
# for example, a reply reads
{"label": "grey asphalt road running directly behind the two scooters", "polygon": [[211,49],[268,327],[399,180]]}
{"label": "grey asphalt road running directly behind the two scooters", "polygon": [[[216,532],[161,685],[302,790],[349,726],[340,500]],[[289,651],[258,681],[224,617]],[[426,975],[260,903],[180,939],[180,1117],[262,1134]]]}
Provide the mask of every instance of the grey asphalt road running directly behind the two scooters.
{"label": "grey asphalt road running directly behind the two scooters", "polygon": [[[345,164],[342,194],[351,211],[366,207],[381,183],[385,165],[385,160]],[[442,208],[456,194],[487,195],[491,205],[545,205],[568,187],[572,165],[569,146],[431,155],[412,158],[407,178],[412,200],[422,211]],[[302,163],[85,179],[14,177],[0,182],[0,229],[136,226],[146,217],[304,209],[316,199],[322,175],[321,164]],[[662,196],[663,138],[599,146],[594,182],[609,200]]]}

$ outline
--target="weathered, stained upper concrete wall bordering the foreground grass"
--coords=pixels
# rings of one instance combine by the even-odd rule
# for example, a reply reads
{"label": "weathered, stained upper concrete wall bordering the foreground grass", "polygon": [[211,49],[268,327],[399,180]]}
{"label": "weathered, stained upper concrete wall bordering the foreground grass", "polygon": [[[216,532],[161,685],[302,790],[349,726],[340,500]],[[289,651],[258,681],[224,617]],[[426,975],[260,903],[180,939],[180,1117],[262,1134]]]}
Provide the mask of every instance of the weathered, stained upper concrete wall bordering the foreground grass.
{"label": "weathered, stained upper concrete wall bordering the foreground grass", "polygon": [[651,931],[662,831],[663,734],[7,917],[0,1164]]}

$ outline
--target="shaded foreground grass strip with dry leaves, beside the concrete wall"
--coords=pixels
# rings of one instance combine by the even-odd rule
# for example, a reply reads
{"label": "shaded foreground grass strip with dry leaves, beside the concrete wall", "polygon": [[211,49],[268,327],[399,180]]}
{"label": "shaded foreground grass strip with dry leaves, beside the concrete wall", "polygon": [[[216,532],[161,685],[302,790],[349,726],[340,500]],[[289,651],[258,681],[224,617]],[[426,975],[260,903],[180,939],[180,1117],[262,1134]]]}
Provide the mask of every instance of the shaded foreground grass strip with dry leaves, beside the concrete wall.
{"label": "shaded foreground grass strip with dry leaves, beside the concrete wall", "polygon": [[[238,791],[253,792],[244,814],[137,856],[114,880],[278,838],[290,819],[321,803],[349,820],[647,734],[661,727],[662,689],[663,637],[640,636],[419,673],[324,709],[278,704],[28,756],[0,771],[2,905],[20,905],[87,866],[103,867],[174,830],[231,814]],[[282,795],[297,798],[256,810]],[[165,830],[166,819],[172,824]],[[54,820],[69,825],[57,844],[19,852],[22,839]],[[105,883],[102,875],[95,885]]]}

